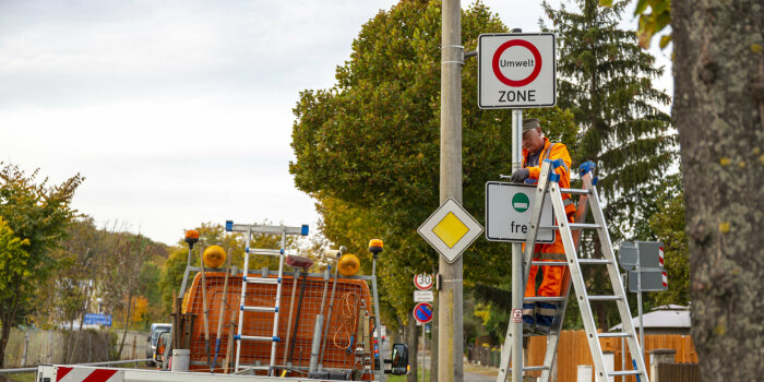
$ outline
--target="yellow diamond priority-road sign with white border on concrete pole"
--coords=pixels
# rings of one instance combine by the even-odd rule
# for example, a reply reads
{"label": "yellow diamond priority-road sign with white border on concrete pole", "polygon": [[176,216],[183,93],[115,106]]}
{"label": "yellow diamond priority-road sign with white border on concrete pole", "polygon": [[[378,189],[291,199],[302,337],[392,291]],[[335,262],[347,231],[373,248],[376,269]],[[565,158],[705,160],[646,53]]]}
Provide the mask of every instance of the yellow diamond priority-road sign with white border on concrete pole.
{"label": "yellow diamond priority-road sign with white border on concrete pole", "polygon": [[419,226],[417,232],[445,261],[453,263],[480,236],[482,226],[456,201],[449,199]]}

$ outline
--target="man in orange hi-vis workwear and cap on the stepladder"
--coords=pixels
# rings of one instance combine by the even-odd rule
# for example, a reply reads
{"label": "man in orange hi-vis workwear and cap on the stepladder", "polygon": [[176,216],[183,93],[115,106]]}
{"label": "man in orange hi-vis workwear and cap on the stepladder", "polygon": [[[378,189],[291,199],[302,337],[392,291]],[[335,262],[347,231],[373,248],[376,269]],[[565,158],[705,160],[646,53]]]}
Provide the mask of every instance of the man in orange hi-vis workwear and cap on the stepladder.
{"label": "man in orange hi-vis workwear and cap on the stepladder", "polygon": [[[568,147],[562,143],[552,143],[548,138],[544,136],[541,124],[538,119],[532,118],[523,121],[523,168],[514,171],[510,178],[513,182],[525,182],[535,184],[538,181],[538,176],[544,159],[562,159],[563,166],[558,167],[554,171],[560,175],[560,187],[571,187],[571,155],[568,153]],[[565,214],[569,222],[573,222],[575,215],[575,204],[570,199],[570,194],[563,194],[562,200],[565,205]],[[536,244],[534,248],[534,258],[540,258],[541,261],[565,261],[565,250],[562,246],[560,231],[554,234],[554,242],[550,244]],[[562,277],[565,272],[564,266],[545,265],[544,279],[538,288],[538,296],[541,297],[559,297],[562,290]],[[528,283],[525,286],[525,297],[536,296],[536,274],[538,265],[530,267]],[[523,333],[535,333],[547,335],[549,334],[557,312],[557,303],[554,302],[529,302],[523,305]],[[535,325],[535,329],[534,329]]]}

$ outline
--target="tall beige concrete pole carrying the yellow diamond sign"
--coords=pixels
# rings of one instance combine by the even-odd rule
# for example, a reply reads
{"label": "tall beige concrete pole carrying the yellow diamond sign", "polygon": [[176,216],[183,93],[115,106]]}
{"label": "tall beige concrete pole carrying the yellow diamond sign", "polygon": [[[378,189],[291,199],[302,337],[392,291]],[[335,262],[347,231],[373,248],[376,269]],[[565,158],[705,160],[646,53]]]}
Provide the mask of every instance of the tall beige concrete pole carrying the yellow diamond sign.
{"label": "tall beige concrete pole carrying the yellow diamond sign", "polygon": [[[443,0],[441,41],[440,202],[462,204],[462,46],[459,0]],[[462,382],[464,302],[462,256],[449,264],[442,256],[438,294],[438,381]]]}

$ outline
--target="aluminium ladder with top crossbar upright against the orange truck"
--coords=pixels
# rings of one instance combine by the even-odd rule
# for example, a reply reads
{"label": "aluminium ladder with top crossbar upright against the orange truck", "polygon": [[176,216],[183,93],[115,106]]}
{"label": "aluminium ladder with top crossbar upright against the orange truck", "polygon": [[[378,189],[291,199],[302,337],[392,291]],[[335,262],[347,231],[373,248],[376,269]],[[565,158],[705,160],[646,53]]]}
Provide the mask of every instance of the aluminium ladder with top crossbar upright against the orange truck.
{"label": "aluminium ladder with top crossbar upright against the orange truck", "polygon": [[[276,344],[280,342],[278,337],[278,308],[280,307],[282,300],[282,280],[284,276],[284,259],[286,256],[286,237],[287,235],[299,235],[308,236],[308,225],[302,225],[301,227],[287,227],[287,226],[264,226],[264,225],[247,225],[247,224],[234,224],[234,222],[226,222],[226,231],[229,232],[246,232],[244,234],[244,266],[243,276],[241,278],[241,299],[239,306],[239,325],[237,334],[234,336],[236,341],[236,365],[234,372],[238,373],[241,370],[267,370],[268,377],[273,377],[274,369],[276,367]],[[266,235],[280,235],[282,243],[280,249],[254,249],[250,248],[250,242],[252,240],[252,234],[266,234]],[[277,277],[267,277],[263,275],[262,277],[250,276],[249,275],[249,255],[260,254],[260,255],[272,255],[278,256],[278,275]],[[247,301],[247,285],[248,284],[260,284],[260,285],[276,285],[276,298],[273,307],[250,307],[246,305]],[[270,336],[266,335],[246,335],[242,333],[244,324],[244,312],[267,312],[273,313],[273,332]],[[270,342],[271,343],[271,362],[268,366],[241,366],[241,342],[243,341],[254,341],[254,342]]]}

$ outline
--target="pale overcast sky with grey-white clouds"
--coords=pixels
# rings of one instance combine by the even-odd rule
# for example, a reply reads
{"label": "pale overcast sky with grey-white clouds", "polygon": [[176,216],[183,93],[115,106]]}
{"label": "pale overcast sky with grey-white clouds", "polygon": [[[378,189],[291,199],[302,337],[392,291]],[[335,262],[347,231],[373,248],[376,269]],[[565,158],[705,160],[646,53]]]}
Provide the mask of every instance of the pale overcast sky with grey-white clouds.
{"label": "pale overcast sky with grey-white clouds", "polygon": [[[314,228],[291,108],[395,2],[0,0],[0,160],[82,174],[74,207],[166,243],[201,222]],[[540,2],[484,2],[538,29]]]}

